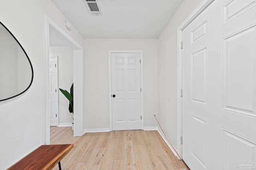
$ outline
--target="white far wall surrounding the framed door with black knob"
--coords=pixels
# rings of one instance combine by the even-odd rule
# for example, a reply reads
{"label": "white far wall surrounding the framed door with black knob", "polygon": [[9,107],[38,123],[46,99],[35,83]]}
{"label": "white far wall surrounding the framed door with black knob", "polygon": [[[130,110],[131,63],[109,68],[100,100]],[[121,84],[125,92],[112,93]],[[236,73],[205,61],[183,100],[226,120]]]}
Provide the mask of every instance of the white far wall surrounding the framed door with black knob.
{"label": "white far wall surrounding the framed door with black knob", "polygon": [[[143,50],[144,127],[156,126],[157,39],[86,39],[85,129],[109,128],[108,50]],[[99,89],[95,84],[99,84]]]}

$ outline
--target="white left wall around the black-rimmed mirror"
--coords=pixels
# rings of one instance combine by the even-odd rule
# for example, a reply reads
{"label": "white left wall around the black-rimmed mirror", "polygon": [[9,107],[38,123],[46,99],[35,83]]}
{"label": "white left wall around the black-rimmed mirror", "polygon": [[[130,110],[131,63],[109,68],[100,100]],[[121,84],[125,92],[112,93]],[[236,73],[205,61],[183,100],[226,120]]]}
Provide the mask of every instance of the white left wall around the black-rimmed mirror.
{"label": "white left wall around the black-rimmed mirror", "polygon": [[45,143],[45,14],[84,45],[74,28],[66,29],[66,18],[51,0],[0,1],[0,21],[21,43],[34,68],[34,81],[28,91],[0,102],[0,169],[8,168]]}

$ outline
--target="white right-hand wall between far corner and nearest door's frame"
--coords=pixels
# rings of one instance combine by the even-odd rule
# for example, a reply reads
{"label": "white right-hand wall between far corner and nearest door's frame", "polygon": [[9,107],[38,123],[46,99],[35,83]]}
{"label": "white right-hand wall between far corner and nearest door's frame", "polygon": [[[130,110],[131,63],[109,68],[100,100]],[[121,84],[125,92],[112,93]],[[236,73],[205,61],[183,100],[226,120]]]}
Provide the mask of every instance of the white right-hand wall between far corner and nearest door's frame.
{"label": "white right-hand wall between far corner and nearest door's frame", "polygon": [[158,38],[158,119],[174,147],[177,146],[177,28],[200,2],[184,0]]}

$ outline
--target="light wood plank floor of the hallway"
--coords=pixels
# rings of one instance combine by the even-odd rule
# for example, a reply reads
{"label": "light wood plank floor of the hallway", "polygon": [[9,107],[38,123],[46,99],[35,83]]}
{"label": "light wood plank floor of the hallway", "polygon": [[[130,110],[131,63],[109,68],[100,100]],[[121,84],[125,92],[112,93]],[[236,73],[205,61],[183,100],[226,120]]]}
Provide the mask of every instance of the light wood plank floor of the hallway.
{"label": "light wood plank floor of the hallway", "polygon": [[[71,127],[50,127],[50,144],[74,144],[62,170],[186,170],[158,131],[111,131],[73,137]],[[58,170],[58,164],[53,170]]]}

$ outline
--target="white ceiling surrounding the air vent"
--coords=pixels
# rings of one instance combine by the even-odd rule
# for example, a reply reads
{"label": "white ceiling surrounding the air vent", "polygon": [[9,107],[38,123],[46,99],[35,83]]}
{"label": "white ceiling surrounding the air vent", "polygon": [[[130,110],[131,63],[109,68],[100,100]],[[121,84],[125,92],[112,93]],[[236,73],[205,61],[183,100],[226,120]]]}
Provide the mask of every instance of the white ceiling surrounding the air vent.
{"label": "white ceiling surrounding the air vent", "polygon": [[158,38],[183,0],[97,0],[92,16],[84,0],[52,0],[86,39]]}

